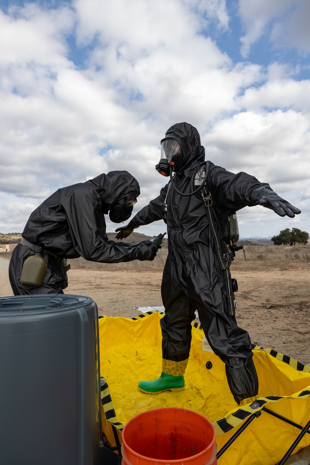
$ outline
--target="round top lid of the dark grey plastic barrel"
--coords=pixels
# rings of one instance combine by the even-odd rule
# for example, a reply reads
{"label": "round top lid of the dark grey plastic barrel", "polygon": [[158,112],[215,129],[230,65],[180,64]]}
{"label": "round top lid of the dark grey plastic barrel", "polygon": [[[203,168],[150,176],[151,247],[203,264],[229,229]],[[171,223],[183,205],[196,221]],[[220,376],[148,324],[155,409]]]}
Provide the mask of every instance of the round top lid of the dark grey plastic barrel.
{"label": "round top lid of the dark grey plastic barrel", "polygon": [[0,297],[1,314],[14,312],[37,312],[74,308],[92,302],[90,297],[68,294],[36,294]]}

